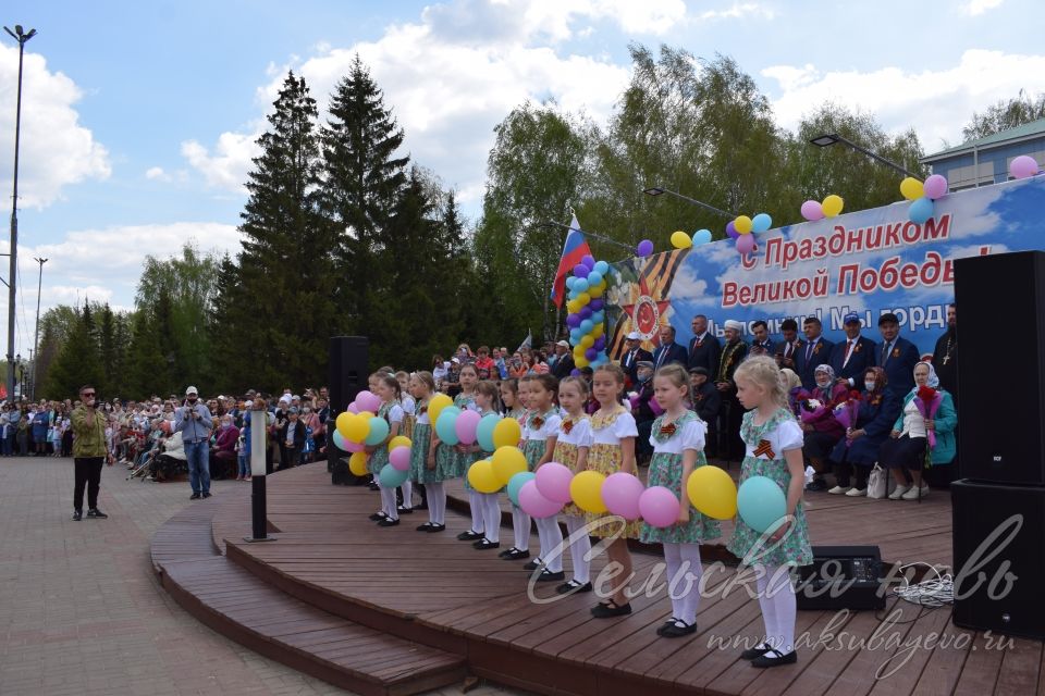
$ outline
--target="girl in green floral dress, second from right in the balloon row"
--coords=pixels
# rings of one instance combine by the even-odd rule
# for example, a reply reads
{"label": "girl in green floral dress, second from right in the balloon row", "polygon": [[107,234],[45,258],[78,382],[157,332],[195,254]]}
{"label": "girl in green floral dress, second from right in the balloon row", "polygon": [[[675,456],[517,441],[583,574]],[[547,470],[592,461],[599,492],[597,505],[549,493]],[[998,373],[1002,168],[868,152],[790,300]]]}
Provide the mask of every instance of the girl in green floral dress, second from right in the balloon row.
{"label": "girl in green floral dress, second from right in the balloon row", "polygon": [[664,486],[681,501],[678,522],[654,527],[643,522],[641,539],[660,543],[667,566],[667,592],[672,618],[656,630],[665,638],[697,632],[697,605],[700,601],[700,545],[722,536],[718,523],[698,512],[689,504],[686,482],[693,470],[708,463],[704,439],[708,424],[687,409],[689,375],[678,363],[669,363],[653,376],[656,402],[664,409],[650,432],[653,457],[650,460],[650,486]]}

